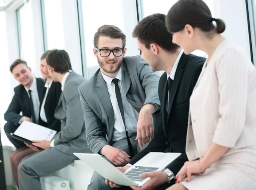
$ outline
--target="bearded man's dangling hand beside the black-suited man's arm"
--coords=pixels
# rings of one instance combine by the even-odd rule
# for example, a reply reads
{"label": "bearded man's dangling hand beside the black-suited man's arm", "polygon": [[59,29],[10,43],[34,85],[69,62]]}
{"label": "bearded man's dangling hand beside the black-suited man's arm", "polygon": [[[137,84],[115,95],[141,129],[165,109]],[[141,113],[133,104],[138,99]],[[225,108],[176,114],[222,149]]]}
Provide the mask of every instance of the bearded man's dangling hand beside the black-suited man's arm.
{"label": "bearded man's dangling hand beside the black-suited man's arm", "polygon": [[143,143],[149,143],[154,137],[152,114],[155,111],[156,105],[154,104],[145,104],[140,110],[136,137],[140,147],[143,147]]}

